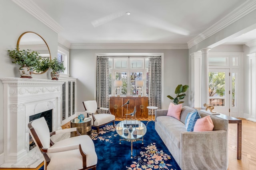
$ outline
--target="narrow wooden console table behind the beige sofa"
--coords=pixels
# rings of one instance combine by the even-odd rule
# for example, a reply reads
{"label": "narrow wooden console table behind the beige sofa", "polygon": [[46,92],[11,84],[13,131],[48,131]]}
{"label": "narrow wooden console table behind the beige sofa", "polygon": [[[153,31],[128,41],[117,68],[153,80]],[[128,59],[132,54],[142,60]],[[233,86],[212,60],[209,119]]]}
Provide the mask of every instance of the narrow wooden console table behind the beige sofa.
{"label": "narrow wooden console table behind the beige sofa", "polygon": [[[202,110],[204,108],[195,108],[195,109]],[[213,115],[213,116],[220,117],[222,119],[226,119],[226,120],[228,120],[228,123],[237,123],[237,151],[236,151],[236,158],[238,160],[241,160],[241,158],[242,158],[242,156],[241,156],[242,155],[242,120],[241,119],[237,119],[235,117],[224,115],[222,113],[220,113],[219,115]]]}

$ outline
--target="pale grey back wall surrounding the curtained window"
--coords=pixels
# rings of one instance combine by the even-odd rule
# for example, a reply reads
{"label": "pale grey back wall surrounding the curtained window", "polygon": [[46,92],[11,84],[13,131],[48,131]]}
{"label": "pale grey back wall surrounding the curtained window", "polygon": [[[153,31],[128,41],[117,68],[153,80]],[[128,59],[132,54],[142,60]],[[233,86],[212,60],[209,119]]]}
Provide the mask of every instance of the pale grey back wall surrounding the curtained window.
{"label": "pale grey back wall surrounding the curtained window", "polygon": [[[70,50],[70,76],[77,78],[77,111],[82,101],[96,99],[96,53],[163,53],[162,108],[167,109],[178,84],[188,84],[188,50]],[[188,97],[184,98],[188,105]]]}

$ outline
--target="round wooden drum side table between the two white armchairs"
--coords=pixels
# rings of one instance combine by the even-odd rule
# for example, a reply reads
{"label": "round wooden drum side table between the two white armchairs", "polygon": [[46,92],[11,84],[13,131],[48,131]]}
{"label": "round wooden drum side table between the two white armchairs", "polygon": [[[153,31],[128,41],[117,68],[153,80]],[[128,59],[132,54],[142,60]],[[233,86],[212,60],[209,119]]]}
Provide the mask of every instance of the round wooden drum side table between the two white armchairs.
{"label": "round wooden drum side table between the two white armchairs", "polygon": [[[81,135],[89,135],[91,137],[92,133],[92,119],[89,117],[84,117],[83,122],[79,122],[80,120],[78,118],[75,118],[70,121],[70,127],[76,127],[78,129],[78,132]],[[70,132],[70,137],[77,136],[76,131],[75,132]]]}

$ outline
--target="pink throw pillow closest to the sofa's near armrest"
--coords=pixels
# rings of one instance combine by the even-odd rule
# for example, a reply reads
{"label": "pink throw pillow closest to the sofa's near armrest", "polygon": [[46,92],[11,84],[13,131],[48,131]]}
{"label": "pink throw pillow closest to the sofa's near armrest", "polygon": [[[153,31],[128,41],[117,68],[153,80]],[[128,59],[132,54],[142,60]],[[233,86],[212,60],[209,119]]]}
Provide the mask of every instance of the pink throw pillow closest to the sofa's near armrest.
{"label": "pink throw pillow closest to the sofa's near armrest", "polygon": [[212,131],[213,130],[213,122],[210,115],[197,119],[196,124],[194,126],[194,132],[202,132],[202,131]]}

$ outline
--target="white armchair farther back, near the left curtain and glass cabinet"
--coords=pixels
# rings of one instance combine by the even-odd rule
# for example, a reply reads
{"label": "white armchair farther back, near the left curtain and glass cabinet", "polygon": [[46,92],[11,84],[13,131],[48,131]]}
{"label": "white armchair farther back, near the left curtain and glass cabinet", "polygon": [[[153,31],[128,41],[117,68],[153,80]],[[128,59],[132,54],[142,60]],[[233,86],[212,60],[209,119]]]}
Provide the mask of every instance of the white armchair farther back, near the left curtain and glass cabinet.
{"label": "white armchair farther back, near the left curtain and glass cabinet", "polygon": [[[92,126],[97,128],[98,135],[100,135],[99,127],[106,125],[110,122],[113,122],[113,125],[115,126],[116,117],[110,113],[110,110],[108,108],[97,107],[96,100],[84,101],[83,104],[85,113],[87,113],[87,117],[90,117],[92,119]],[[97,109],[106,110],[107,113],[98,113]]]}

